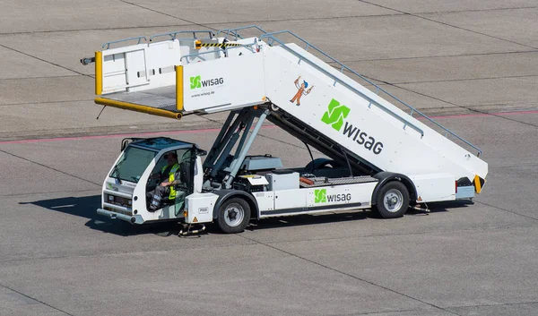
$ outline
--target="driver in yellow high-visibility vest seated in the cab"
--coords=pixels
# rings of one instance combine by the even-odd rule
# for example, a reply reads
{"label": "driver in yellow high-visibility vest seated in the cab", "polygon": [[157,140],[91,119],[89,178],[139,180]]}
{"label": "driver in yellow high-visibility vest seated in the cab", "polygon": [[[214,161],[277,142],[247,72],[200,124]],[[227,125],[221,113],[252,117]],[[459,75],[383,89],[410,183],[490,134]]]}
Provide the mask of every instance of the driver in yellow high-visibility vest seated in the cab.
{"label": "driver in yellow high-visibility vest seated in the cab", "polygon": [[[159,176],[161,184],[157,185],[155,190],[148,193],[151,203],[149,211],[154,212],[157,209],[161,209],[162,199],[168,199],[174,201],[176,199],[176,190],[173,184],[177,184],[179,180],[179,164],[178,154],[174,151],[169,151],[164,155],[167,165],[162,167]],[[178,180],[176,180],[178,179]]]}

